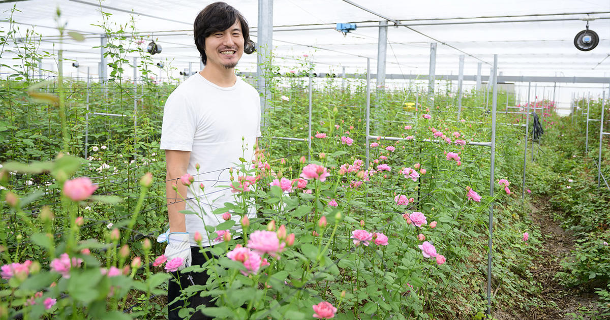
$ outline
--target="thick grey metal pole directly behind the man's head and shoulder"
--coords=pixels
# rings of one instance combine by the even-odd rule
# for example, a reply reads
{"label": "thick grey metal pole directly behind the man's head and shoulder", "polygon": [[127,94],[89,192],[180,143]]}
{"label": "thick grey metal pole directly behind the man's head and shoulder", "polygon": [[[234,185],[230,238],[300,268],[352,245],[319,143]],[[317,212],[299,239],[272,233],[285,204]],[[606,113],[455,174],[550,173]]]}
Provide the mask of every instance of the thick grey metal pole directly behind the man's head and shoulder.
{"label": "thick grey metal pole directly behind the man's head and shoulder", "polygon": [[260,94],[260,124],[265,127],[265,110],[268,101],[271,101],[271,91],[267,89],[268,66],[271,63],[271,49],[273,48],[273,0],[258,0],[259,20],[256,37],[256,84]]}

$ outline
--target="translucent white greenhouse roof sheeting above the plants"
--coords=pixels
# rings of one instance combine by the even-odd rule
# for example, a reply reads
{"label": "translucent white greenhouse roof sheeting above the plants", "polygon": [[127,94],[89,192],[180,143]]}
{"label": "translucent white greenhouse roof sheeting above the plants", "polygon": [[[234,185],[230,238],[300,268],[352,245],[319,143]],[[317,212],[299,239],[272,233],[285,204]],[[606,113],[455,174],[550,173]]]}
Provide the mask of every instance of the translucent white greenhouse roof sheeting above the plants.
{"label": "translucent white greenhouse roof sheeting above the plants", "polygon": [[[199,68],[199,54],[193,44],[192,23],[199,10],[213,1],[192,0],[106,0],[104,12],[112,13],[108,20],[113,30],[129,24],[134,12],[135,29],[149,40],[157,39],[163,51],[152,56],[154,60],[171,61],[171,65],[182,71]],[[227,0],[240,10],[252,28],[256,41],[257,1]],[[483,74],[489,74],[493,54],[498,54],[499,70],[505,76],[610,76],[610,1],[608,0],[354,0],[358,5],[379,15],[420,26],[413,29],[439,40],[437,46],[436,74],[458,74],[458,60],[462,52],[450,48],[449,44],[468,55],[465,57],[464,73],[476,74],[477,63],[483,60]],[[43,35],[40,49],[51,51],[57,45],[57,30],[54,29],[54,13],[59,6],[66,28],[79,30],[87,36],[84,42],[69,38],[64,40],[65,57],[78,60],[81,66],[90,66],[91,74],[97,73],[100,60],[99,34],[102,23],[99,2],[95,0],[24,0],[0,1],[2,16],[9,17],[10,9],[16,6],[20,12],[13,20],[20,24],[21,32],[34,25]],[[570,14],[580,13],[580,14]],[[587,16],[584,13],[592,13]],[[527,16],[525,16],[527,15]],[[539,16],[533,16],[539,15]],[[477,18],[477,17],[492,18]],[[520,16],[520,17],[506,17]],[[586,21],[540,21],[553,19],[597,18],[589,27],[600,37],[600,43],[592,51],[583,52],[573,45],[577,32],[585,29]],[[534,22],[476,23],[481,21],[537,20]],[[365,22],[368,21],[368,22]],[[385,21],[341,0],[274,0],[273,1],[273,46],[278,56],[276,64],[282,71],[296,68],[304,60],[317,63],[320,72],[339,74],[343,66],[347,73],[364,72],[366,59],[376,59],[378,48],[378,21]],[[331,29],[336,23],[357,22],[359,28],[345,37]],[[460,23],[443,25],[421,25],[431,23]],[[436,42],[404,26],[389,23],[386,73],[428,74],[430,43]],[[300,27],[296,27],[300,26]],[[373,26],[373,27],[365,27]],[[0,23],[7,30],[8,23]],[[293,30],[306,28],[329,29]],[[129,26],[123,28],[130,32]],[[291,31],[285,31],[292,29]],[[280,31],[282,30],[282,31]],[[55,45],[54,45],[55,43]],[[443,44],[445,43],[445,44]],[[314,47],[312,47],[314,46]],[[304,58],[303,54],[308,57]],[[9,55],[2,57],[3,60]],[[131,57],[127,56],[131,61]],[[6,62],[6,60],[4,61]],[[601,62],[601,63],[600,63]],[[46,63],[46,64],[45,64]],[[43,61],[44,68],[52,68],[51,59]],[[56,68],[56,67],[55,67]],[[70,66],[71,68],[71,66]],[[76,76],[74,69],[65,68]],[[244,55],[240,71],[255,71],[256,54]],[[376,71],[376,60],[371,60],[371,72]],[[5,70],[1,72],[6,72]],[[83,68],[78,71],[83,74]],[[177,72],[176,72],[177,73]],[[129,71],[127,76],[131,75]],[[609,79],[610,82],[610,79]],[[589,85],[601,87],[601,85]]]}

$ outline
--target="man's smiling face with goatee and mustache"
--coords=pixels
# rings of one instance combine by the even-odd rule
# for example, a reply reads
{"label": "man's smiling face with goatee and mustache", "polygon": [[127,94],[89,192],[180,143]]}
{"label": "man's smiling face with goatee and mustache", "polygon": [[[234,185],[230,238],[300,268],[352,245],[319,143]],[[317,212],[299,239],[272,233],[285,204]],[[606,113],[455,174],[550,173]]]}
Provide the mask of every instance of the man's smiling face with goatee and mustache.
{"label": "man's smiling face with goatee and mustache", "polygon": [[243,54],[243,34],[239,20],[224,31],[213,32],[206,38],[206,64],[235,68]]}

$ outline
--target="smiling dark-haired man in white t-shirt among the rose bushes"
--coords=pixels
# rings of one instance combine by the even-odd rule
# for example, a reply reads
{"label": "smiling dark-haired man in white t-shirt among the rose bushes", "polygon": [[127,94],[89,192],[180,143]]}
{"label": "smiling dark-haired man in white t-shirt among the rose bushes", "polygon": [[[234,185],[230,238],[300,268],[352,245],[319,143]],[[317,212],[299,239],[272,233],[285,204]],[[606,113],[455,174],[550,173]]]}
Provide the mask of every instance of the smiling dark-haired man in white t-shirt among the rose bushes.
{"label": "smiling dark-haired man in white t-shirt among the rose bushes", "polygon": [[[212,212],[224,207],[224,202],[234,202],[231,188],[219,186],[231,185],[228,168],[239,163],[240,157],[251,157],[260,136],[259,94],[235,76],[234,71],[244,45],[250,41],[248,30],[241,13],[224,2],[215,2],[199,12],[194,36],[205,67],[170,94],[163,110],[160,148],[165,150],[167,162],[170,230],[160,239],[168,242],[165,249],[168,260],[184,259],[181,269],[206,262],[207,257],[199,252],[194,239],[195,232],[203,236],[203,246],[214,244],[214,237],[205,226],[224,222]],[[179,180],[187,173],[194,178],[190,188]],[[202,183],[204,188],[200,187]],[[197,214],[184,215],[182,210]],[[232,219],[239,226],[239,216]],[[174,277],[178,277],[178,272]],[[180,285],[171,280],[168,303],[180,296],[181,288],[204,285],[207,278],[206,272],[191,272],[181,274]],[[184,307],[213,305],[210,299],[196,294]],[[169,319],[181,319],[178,311],[182,307],[182,300],[170,304]],[[208,318],[197,312],[191,319]]]}

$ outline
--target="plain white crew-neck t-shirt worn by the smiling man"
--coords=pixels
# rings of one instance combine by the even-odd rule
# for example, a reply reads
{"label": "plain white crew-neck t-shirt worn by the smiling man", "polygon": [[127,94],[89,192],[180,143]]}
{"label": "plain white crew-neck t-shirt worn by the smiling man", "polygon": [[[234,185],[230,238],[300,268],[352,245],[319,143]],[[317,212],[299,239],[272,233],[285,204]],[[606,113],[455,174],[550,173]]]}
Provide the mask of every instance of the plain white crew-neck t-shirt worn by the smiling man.
{"label": "plain white crew-neck t-shirt worn by the smiling man", "polygon": [[[186,210],[199,212],[197,197],[205,225],[224,222],[221,215],[212,212],[224,207],[225,202],[235,202],[235,197],[230,187],[220,186],[231,185],[229,167],[234,167],[237,181],[240,157],[249,162],[248,168],[257,137],[260,137],[259,93],[240,77],[232,87],[223,88],[196,73],[165,102],[160,148],[191,152],[187,172],[195,182],[187,191]],[[197,163],[199,171],[195,168]],[[200,183],[204,184],[204,191],[199,188]],[[254,215],[255,209],[250,207],[249,216]],[[232,219],[236,221],[233,233],[240,232],[239,216],[233,215]],[[213,243],[208,241],[208,232],[199,216],[186,215],[185,220],[192,246],[196,246],[193,240],[196,231],[203,236],[204,246]],[[215,233],[210,238],[213,240]]]}

